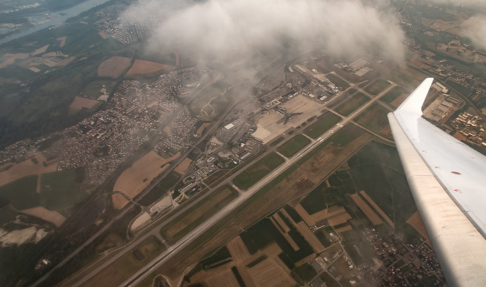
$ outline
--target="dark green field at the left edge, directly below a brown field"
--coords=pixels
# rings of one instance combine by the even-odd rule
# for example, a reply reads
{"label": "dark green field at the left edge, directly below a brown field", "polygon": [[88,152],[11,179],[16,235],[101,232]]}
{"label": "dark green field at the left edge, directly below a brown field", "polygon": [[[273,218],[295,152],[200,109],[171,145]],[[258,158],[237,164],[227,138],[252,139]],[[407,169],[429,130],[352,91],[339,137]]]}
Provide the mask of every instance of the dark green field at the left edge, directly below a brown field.
{"label": "dark green field at the left edge, directly below a brown field", "polygon": [[12,204],[15,209],[22,211],[40,205],[41,197],[35,190],[37,175],[31,175],[1,186],[0,197]]}

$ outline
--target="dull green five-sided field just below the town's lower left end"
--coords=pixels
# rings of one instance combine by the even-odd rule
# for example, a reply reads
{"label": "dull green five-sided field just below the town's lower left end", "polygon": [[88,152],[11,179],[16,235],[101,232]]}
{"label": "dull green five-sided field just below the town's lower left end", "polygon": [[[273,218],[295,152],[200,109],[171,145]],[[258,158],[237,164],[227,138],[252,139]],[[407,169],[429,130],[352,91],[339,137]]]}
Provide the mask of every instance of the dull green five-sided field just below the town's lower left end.
{"label": "dull green five-sided field just below the town's lower left end", "polygon": [[40,176],[40,204],[68,218],[87,193],[76,183],[75,170],[62,170]]}

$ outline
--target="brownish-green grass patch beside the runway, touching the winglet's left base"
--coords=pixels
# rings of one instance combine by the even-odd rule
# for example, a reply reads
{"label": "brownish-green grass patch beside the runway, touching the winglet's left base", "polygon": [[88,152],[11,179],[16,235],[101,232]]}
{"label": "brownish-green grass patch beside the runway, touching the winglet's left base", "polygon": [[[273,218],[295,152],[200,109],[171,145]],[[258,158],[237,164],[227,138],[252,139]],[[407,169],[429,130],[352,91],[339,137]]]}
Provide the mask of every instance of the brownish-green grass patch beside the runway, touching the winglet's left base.
{"label": "brownish-green grass patch beside the runway, touching the winglet's left base", "polygon": [[365,128],[378,133],[389,140],[392,140],[392,132],[389,129],[387,114],[390,111],[378,103],[374,103],[354,120]]}

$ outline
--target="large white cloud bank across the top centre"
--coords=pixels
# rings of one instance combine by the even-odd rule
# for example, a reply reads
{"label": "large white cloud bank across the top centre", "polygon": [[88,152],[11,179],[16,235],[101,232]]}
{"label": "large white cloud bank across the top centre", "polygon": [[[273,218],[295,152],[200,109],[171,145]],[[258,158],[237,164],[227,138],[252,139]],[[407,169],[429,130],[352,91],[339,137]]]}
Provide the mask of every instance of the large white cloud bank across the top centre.
{"label": "large white cloud bank across the top centre", "polygon": [[394,15],[358,0],[165,1],[164,7],[160,2],[142,1],[125,17],[160,19],[151,42],[196,54],[202,61],[251,58],[288,47],[361,54],[370,45],[384,56],[403,57],[403,33]]}

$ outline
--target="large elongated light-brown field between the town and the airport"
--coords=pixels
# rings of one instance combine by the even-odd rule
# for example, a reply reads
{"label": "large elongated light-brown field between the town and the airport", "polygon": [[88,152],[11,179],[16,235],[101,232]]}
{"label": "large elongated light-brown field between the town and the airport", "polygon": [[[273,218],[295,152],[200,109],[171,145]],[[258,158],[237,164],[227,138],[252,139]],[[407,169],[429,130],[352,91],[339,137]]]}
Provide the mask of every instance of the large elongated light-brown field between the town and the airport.
{"label": "large elongated light-brown field between the town and the airport", "polygon": [[[129,198],[137,196],[144,188],[149,186],[150,182],[156,178],[160,172],[167,168],[167,164],[178,158],[180,154],[171,156],[170,158],[162,158],[154,151],[140,158],[133,163],[131,167],[125,170],[115,183],[113,191],[124,192]],[[122,208],[128,203],[128,200],[119,194],[112,195],[113,206],[115,208]]]}

